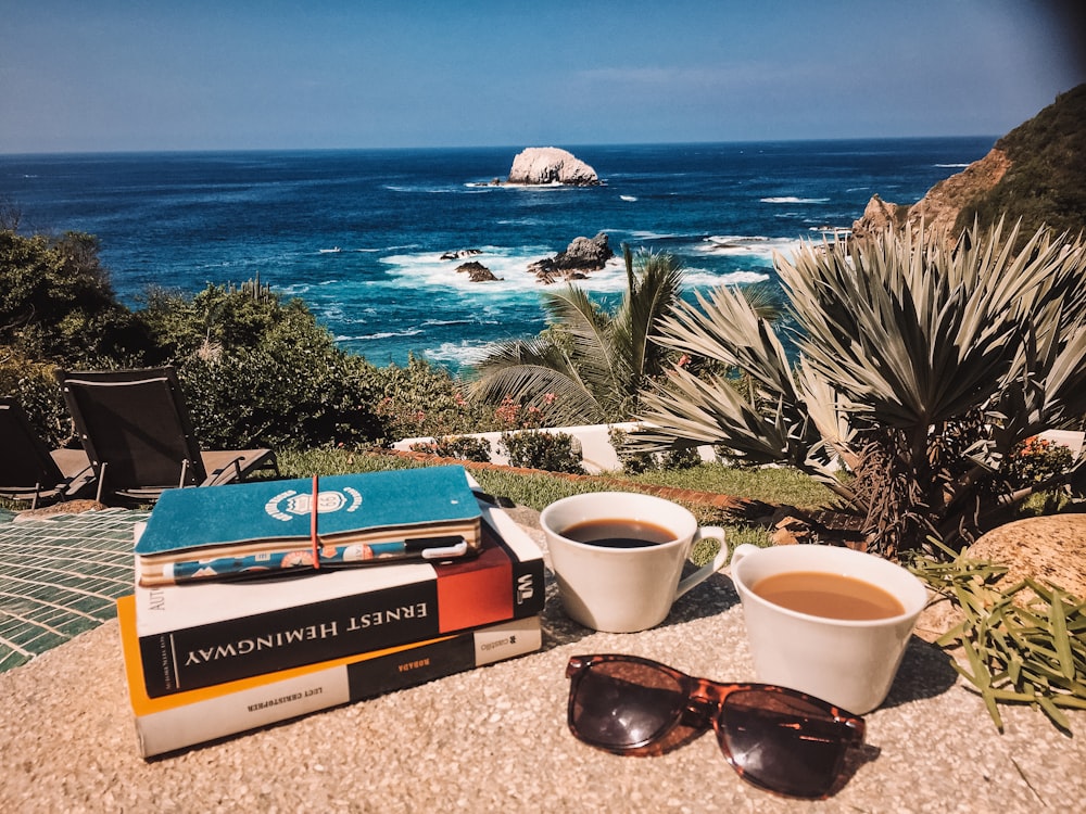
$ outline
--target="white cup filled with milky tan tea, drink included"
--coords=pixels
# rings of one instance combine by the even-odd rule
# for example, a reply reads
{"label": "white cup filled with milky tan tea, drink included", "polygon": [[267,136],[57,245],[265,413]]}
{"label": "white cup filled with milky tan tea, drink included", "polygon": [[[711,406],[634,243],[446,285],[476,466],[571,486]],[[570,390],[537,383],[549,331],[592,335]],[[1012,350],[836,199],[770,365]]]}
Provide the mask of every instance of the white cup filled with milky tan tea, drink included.
{"label": "white cup filled with milky tan tea, drink included", "polygon": [[758,679],[862,715],[885,700],[917,618],[924,584],[874,555],[824,545],[732,555]]}

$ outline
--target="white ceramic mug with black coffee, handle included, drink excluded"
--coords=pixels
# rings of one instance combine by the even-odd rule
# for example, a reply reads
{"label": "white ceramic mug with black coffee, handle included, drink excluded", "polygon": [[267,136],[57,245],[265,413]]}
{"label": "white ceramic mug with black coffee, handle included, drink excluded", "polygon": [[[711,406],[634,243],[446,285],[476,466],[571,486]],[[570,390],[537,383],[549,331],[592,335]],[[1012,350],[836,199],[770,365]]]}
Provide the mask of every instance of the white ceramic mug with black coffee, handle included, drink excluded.
{"label": "white ceramic mug with black coffee, handle included, drink excluded", "polygon": [[[608,548],[578,543],[564,532],[593,520],[647,522],[671,533],[667,543]],[[728,561],[724,532],[698,527],[696,518],[670,500],[628,492],[594,492],[557,500],[540,514],[551,564],[566,612],[585,627],[633,633],[658,625],[671,605]],[[694,540],[714,537],[720,552],[685,578]]]}

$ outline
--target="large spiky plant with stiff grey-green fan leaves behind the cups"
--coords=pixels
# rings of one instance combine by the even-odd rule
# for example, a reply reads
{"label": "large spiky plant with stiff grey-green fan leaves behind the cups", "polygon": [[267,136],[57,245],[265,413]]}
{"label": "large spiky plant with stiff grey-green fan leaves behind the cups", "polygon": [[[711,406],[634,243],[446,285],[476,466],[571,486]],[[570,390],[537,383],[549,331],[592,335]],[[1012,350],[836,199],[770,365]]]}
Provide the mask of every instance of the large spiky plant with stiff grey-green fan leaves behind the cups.
{"label": "large spiky plant with stiff grey-green fan leaves behind the cups", "polygon": [[929,536],[971,540],[1053,485],[1012,492],[1000,474],[1012,449],[1086,414],[1083,240],[1040,229],[1013,254],[1018,229],[1003,232],[974,224],[948,246],[923,229],[887,231],[778,256],[794,365],[737,291],[699,296],[660,342],[742,371],[756,392],[675,368],[642,396],[655,428],[645,441],[719,444],[808,472],[885,556]]}

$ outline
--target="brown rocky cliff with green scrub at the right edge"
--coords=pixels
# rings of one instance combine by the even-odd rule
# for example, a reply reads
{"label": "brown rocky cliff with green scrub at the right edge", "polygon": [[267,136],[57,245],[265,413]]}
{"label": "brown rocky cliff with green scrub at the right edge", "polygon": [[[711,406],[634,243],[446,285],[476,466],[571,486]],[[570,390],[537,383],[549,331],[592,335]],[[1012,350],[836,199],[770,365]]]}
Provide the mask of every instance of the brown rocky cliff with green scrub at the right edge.
{"label": "brown rocky cliff with green scrub at the right edge", "polygon": [[990,226],[1000,217],[1009,224],[1021,219],[1020,242],[1043,225],[1072,234],[1086,229],[1086,85],[1058,97],[917,203],[872,196],[853,236],[887,227],[917,229],[923,222],[952,243],[974,218]]}

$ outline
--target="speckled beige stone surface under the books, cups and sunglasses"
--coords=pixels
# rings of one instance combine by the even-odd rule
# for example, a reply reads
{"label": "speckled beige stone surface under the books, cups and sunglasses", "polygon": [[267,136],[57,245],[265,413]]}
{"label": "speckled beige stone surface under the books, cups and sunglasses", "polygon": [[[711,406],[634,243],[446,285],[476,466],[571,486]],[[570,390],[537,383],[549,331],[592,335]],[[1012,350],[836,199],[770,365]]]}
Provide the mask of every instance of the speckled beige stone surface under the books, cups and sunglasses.
{"label": "speckled beige stone surface under the books, cups and sunglasses", "polygon": [[727,574],[683,597],[659,627],[627,635],[567,621],[552,582],[544,622],[539,653],[143,761],[110,621],[0,674],[0,811],[1086,810],[1086,713],[1072,714],[1072,738],[1040,713],[1003,708],[999,734],[948,657],[919,638],[891,697],[867,716],[847,780],[812,803],[745,784],[711,734],[637,759],[566,729],[564,670],[574,653],[639,653],[720,681],[754,678]]}

